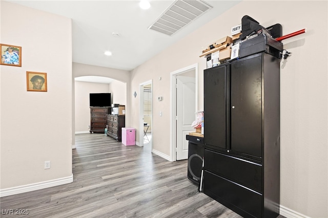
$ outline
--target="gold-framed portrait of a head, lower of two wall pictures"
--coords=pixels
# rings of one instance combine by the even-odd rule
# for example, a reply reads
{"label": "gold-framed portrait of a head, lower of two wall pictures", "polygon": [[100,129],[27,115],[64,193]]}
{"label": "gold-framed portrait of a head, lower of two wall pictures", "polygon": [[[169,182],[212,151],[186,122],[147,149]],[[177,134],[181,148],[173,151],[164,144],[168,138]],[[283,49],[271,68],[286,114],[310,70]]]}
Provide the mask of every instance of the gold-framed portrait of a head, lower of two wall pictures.
{"label": "gold-framed portrait of a head, lower of two wall pictures", "polygon": [[47,73],[26,72],[27,91],[47,92]]}

